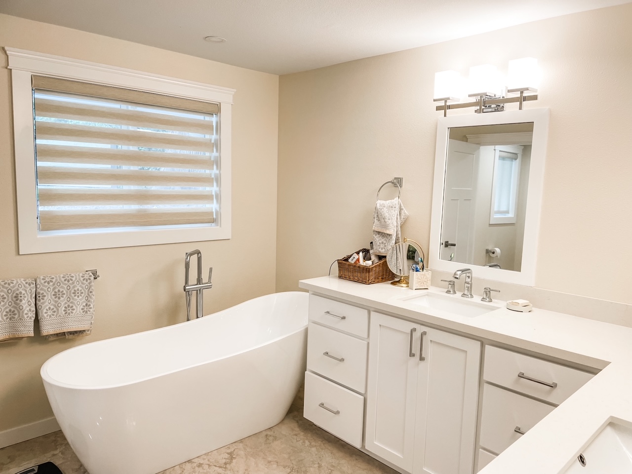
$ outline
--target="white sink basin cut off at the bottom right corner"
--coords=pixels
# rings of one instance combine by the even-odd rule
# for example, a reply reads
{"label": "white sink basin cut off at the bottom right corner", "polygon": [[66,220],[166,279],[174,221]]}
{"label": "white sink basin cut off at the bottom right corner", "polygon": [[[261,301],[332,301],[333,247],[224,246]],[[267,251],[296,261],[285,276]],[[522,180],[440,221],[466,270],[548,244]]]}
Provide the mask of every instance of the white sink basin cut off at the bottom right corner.
{"label": "white sink basin cut off at the bottom right corner", "polygon": [[616,422],[605,425],[561,474],[577,473],[632,473],[632,427]]}

